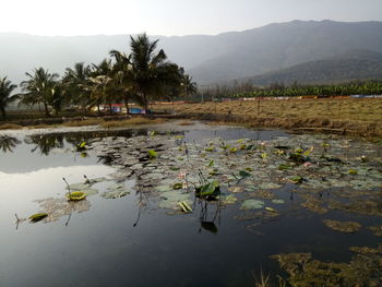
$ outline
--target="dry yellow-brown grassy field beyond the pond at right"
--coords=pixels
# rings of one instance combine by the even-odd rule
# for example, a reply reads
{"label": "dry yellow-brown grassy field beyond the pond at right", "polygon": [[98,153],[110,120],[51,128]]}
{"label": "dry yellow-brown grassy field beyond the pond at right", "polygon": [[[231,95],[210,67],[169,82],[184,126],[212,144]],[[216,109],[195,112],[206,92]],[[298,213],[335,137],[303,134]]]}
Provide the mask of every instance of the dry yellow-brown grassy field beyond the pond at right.
{"label": "dry yellow-brown grassy field beyond the pond at right", "polygon": [[[155,106],[156,110],[168,106]],[[174,105],[175,112],[251,127],[327,130],[351,135],[382,136],[382,98],[231,100]]]}

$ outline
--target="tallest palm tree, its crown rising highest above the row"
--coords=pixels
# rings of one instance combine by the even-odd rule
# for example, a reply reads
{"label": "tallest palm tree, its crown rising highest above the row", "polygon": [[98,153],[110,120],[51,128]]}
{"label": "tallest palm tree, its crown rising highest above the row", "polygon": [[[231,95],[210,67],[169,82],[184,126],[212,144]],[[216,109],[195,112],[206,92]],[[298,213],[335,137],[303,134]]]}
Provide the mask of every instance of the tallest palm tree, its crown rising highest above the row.
{"label": "tallest palm tree, its crown rising highest above the row", "polygon": [[150,97],[157,96],[162,87],[172,80],[169,73],[174,73],[175,70],[179,72],[179,69],[167,61],[167,56],[163,49],[155,52],[158,40],[151,43],[146,34],[130,38],[130,62],[135,93],[141,98],[145,110],[147,110]]}

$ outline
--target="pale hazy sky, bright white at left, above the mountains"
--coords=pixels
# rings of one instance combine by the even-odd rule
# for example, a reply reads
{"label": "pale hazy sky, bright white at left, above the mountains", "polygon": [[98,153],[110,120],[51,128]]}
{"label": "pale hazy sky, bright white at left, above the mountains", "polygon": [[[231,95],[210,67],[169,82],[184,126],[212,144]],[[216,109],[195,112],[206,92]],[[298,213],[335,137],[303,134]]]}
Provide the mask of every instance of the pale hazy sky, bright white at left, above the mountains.
{"label": "pale hazy sky, bright white at left, above the mountains", "polygon": [[0,32],[218,34],[290,20],[382,21],[382,0],[0,0]]}

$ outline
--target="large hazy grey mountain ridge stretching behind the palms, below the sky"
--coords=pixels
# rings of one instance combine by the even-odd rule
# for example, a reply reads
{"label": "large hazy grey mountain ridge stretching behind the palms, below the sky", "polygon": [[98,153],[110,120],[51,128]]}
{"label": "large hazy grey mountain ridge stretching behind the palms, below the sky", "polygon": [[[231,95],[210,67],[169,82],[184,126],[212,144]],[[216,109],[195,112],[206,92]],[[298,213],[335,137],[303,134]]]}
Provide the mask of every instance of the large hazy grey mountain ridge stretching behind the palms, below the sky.
{"label": "large hazy grey mountain ridge stretching behind the palms, below the sky", "polygon": [[[293,21],[216,36],[152,36],[200,84],[249,77],[349,50],[382,52],[382,22]],[[128,35],[43,37],[0,34],[0,75],[14,82],[44,67],[63,74],[75,62],[98,63],[128,51]]]}

